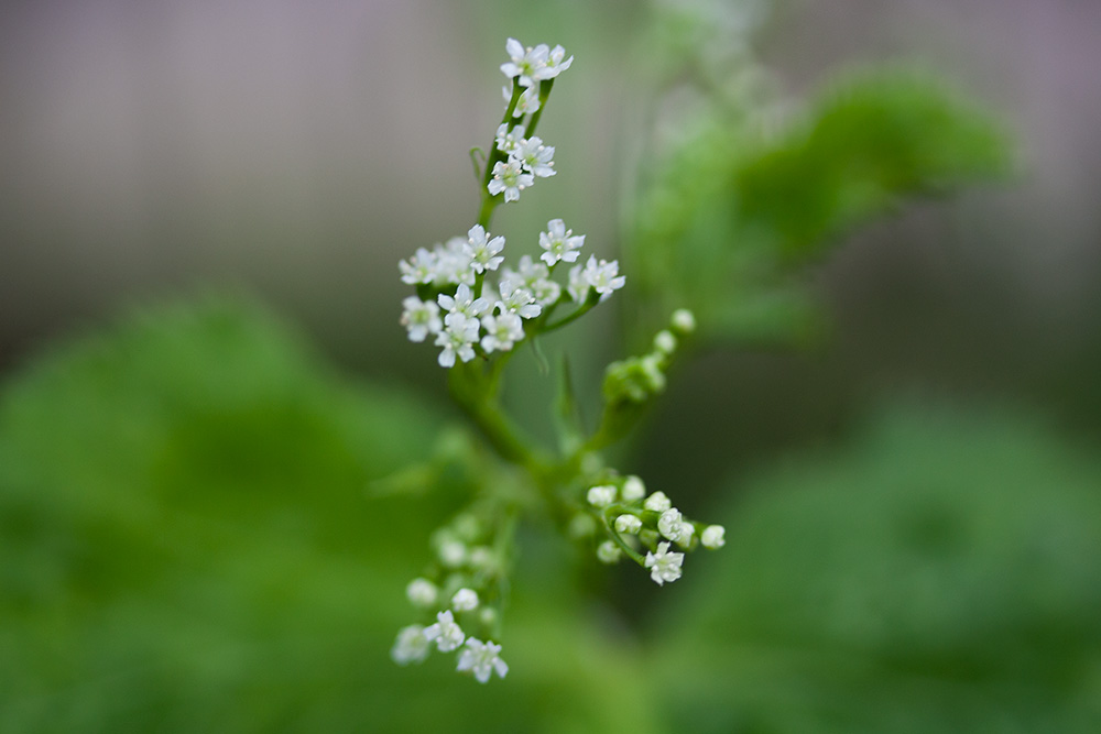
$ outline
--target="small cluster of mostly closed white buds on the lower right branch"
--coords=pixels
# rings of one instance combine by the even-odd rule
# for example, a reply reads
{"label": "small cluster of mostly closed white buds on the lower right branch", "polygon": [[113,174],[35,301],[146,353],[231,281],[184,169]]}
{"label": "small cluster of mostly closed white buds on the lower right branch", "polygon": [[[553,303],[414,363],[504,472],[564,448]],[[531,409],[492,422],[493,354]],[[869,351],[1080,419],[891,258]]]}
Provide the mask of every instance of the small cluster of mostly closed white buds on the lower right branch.
{"label": "small cluster of mostly closed white buds on the lower right branch", "polygon": [[[669,550],[673,544],[684,550],[701,545],[717,550],[726,540],[721,525],[701,526],[684,517],[664,492],[646,496],[646,487],[637,476],[628,476],[617,484],[599,484],[586,493],[589,505],[599,511],[613,539],[597,546],[597,558],[615,563],[623,556],[623,546],[647,549],[643,566],[657,585],[680,578],[685,555]],[[698,533],[697,533],[698,532]]]}

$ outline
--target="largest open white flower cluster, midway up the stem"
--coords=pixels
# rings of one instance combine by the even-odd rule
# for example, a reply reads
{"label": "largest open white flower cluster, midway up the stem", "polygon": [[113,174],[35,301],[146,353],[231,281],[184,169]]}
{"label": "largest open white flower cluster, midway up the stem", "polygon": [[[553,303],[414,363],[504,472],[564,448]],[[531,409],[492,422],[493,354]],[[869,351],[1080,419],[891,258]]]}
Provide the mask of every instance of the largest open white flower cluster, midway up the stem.
{"label": "largest open white flower cluster, midway up the stem", "polygon": [[[401,324],[411,341],[425,341],[429,336],[440,347],[440,366],[454,366],[457,360],[469,362],[479,352],[505,352],[526,336],[524,324],[539,317],[544,309],[564,302],[563,287],[552,280],[559,261],[577,261],[585,235],[575,235],[560,219],[547,222],[539,233],[543,262],[530,255],[520,259],[516,270],[502,266],[503,237],[491,237],[475,224],[466,238],[454,237],[432,250],[421,248],[408,260],[399,263],[402,281],[437,292],[435,299],[410,296],[402,302]],[[500,271],[495,286],[488,283],[480,293],[479,278]],[[568,297],[578,306],[585,304],[590,289],[606,299],[623,287],[617,261],[589,258],[585,266],[575,265],[569,273]],[[487,295],[481,295],[487,294]]]}

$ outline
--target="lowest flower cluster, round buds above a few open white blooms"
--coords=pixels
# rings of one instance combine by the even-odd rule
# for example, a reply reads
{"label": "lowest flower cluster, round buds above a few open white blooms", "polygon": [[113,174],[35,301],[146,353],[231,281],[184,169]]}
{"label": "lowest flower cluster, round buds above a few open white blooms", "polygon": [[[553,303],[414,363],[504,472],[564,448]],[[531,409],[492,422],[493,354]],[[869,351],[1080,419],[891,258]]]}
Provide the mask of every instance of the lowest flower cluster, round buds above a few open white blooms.
{"label": "lowest flower cluster, round buds above a few open white blooms", "polygon": [[[430,623],[399,631],[390,650],[394,662],[422,662],[433,647],[439,653],[459,650],[459,672],[470,672],[482,683],[493,672],[504,678],[509,666],[501,659],[501,646],[489,639],[500,620],[497,588],[503,573],[501,559],[489,545],[492,540],[484,523],[471,514],[459,515],[436,532],[436,562],[405,588],[410,603],[430,615],[426,620]],[[471,628],[484,633],[487,640],[468,634]]]}

